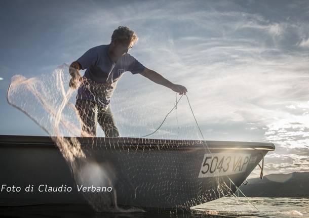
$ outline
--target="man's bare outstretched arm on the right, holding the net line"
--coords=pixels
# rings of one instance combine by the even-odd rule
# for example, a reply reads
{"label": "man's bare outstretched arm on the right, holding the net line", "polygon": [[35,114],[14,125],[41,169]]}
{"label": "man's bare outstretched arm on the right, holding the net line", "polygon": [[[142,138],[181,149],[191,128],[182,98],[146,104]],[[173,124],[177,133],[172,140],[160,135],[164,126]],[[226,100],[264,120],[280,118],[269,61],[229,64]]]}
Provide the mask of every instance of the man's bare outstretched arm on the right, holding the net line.
{"label": "man's bare outstretched arm on the right, holding the net line", "polygon": [[174,84],[168,79],[164,78],[161,74],[157,73],[154,70],[150,70],[147,67],[140,74],[150,79],[151,81],[156,82],[157,84],[164,85],[167,88],[170,88],[174,92],[179,93],[179,95],[183,95],[188,92],[183,85]]}

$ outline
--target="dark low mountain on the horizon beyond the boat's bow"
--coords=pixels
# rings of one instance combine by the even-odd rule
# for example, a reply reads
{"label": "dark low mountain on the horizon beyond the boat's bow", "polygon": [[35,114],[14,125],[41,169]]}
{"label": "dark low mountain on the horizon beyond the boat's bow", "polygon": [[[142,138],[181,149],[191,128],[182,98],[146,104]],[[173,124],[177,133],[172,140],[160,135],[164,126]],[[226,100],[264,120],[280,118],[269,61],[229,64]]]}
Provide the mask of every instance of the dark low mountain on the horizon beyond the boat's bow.
{"label": "dark low mountain on the horizon beyond the boat's bow", "polygon": [[250,197],[309,197],[309,172],[270,174],[249,179],[240,190]]}

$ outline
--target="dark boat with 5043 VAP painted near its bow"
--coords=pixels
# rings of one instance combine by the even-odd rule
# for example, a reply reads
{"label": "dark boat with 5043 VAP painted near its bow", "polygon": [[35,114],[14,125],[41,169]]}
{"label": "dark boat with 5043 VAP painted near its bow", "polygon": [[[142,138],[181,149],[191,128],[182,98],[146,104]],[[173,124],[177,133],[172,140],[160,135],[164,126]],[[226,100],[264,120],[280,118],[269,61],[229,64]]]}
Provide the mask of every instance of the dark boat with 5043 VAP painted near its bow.
{"label": "dark boat with 5043 VAP painted near its bow", "polygon": [[96,167],[105,170],[105,188],[95,181],[76,184],[53,138],[1,135],[0,206],[88,204],[90,198],[112,196],[125,207],[187,209],[236,192],[266,153],[275,150],[272,143],[258,142],[74,139],[91,159],[84,169],[94,177]]}

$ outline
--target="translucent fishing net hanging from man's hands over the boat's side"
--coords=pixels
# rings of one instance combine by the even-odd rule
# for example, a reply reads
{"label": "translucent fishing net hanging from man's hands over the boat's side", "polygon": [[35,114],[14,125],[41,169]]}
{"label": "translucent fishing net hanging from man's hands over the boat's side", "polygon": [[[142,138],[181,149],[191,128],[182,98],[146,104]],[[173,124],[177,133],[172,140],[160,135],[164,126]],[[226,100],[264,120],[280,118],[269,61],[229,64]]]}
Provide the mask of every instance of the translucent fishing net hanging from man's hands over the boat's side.
{"label": "translucent fishing net hanging from man's hands over the boat's side", "polygon": [[[106,90],[95,92],[102,95],[104,92],[111,93],[107,99],[92,96],[102,104],[85,105],[85,102],[82,102],[77,107],[77,91],[69,88],[68,68],[68,65],[63,64],[51,74],[31,78],[14,76],[7,99],[9,104],[24,112],[52,137],[71,168],[75,185],[112,188],[110,192],[83,193],[95,210],[137,210],[135,207],[124,209],[119,205],[189,208],[235,192],[236,188],[229,178],[217,177],[216,172],[214,177],[199,178],[204,154],[211,153],[206,142],[179,139],[188,134],[196,138],[199,134],[196,127],[186,129],[178,126],[174,128],[176,133],[164,127],[163,130],[155,131],[156,134],[163,131],[163,136],[171,133],[170,136],[174,139],[160,139],[160,135],[156,134],[152,136],[159,139],[140,138],[137,136],[148,135],[156,129],[157,126],[151,124],[151,116],[149,119],[145,118],[148,116],[130,119],[128,110],[119,109],[119,116],[124,118],[124,121],[119,122],[118,128],[114,129],[114,118],[111,112],[104,108],[104,101],[109,101],[112,94],[110,85],[98,86],[100,89],[105,87]],[[96,86],[91,87],[94,89]],[[116,98],[112,104],[129,102],[130,96],[128,91],[127,95]],[[181,101],[177,107],[181,113],[179,108],[184,108],[182,106],[186,102],[180,103]],[[131,106],[129,110],[133,110],[134,104],[128,104]],[[135,107],[142,107],[142,103]],[[173,110],[177,107],[174,105]],[[144,115],[154,113],[151,110],[150,108],[144,111]],[[83,113],[85,117],[81,115]],[[174,112],[173,114],[177,115]],[[91,128],[96,128],[96,124],[87,128],[93,120],[98,120],[101,126],[104,125],[102,128],[105,135],[112,138],[93,137]],[[114,138],[119,132],[128,133],[128,120],[132,122],[132,129],[136,130],[131,132],[134,137]],[[140,131],[134,128],[134,123],[138,121],[143,126]],[[165,121],[172,122],[169,118]],[[177,123],[181,126],[182,121],[177,119]],[[247,176],[243,173],[243,180]],[[240,183],[237,183],[239,186]]]}

